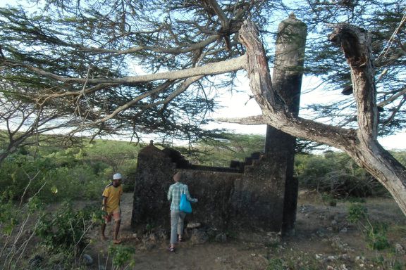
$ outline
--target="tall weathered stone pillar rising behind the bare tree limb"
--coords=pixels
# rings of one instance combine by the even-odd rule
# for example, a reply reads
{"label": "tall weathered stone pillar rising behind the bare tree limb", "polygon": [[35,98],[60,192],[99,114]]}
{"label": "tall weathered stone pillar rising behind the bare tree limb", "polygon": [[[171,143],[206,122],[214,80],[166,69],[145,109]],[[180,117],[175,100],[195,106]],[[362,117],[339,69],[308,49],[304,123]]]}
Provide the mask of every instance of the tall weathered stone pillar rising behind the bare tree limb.
{"label": "tall weathered stone pillar rising behind the bare tree limb", "polygon": [[[307,27],[291,14],[278,27],[272,87],[285,103],[285,108],[299,114],[300,89],[304,67]],[[266,128],[264,153],[270,162],[285,169],[285,200],[282,233],[294,232],[297,210],[297,179],[293,177],[296,138],[274,127]]]}

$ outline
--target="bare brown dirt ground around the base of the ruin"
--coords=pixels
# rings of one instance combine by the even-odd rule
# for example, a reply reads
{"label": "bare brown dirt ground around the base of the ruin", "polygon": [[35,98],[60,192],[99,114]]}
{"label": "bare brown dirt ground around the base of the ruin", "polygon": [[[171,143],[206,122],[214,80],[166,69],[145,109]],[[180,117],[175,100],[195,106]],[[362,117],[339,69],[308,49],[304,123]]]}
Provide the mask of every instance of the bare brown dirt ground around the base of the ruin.
{"label": "bare brown dirt ground around the base of the ruin", "polygon": [[[346,219],[347,203],[333,207],[300,195],[295,236],[278,243],[228,238],[223,243],[194,244],[186,239],[172,253],[167,250],[168,240],[146,242],[131,231],[132,196],[125,193],[121,203],[121,247],[135,250],[135,264],[127,269],[406,269],[406,218],[391,198],[367,200],[369,217],[389,224],[391,248],[386,250],[368,248],[357,226]],[[110,239],[112,230],[112,224],[107,226]],[[111,240],[99,239],[99,230],[92,232],[87,252],[95,262],[90,269],[112,269],[107,258],[111,245]]]}

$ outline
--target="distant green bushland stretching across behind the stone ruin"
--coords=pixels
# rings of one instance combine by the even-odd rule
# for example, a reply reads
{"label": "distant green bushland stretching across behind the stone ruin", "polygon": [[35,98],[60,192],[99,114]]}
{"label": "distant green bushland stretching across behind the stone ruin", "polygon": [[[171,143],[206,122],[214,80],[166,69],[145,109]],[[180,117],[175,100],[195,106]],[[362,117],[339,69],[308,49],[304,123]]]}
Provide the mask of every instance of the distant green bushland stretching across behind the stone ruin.
{"label": "distant green bushland stretching across behind the stone ruin", "polygon": [[[68,148],[54,145],[21,148],[0,165],[0,194],[11,200],[20,200],[24,195],[26,200],[44,185],[38,194],[44,201],[97,199],[114,172],[125,176],[123,188],[131,192],[142,147],[124,141],[95,140]],[[195,164],[228,167],[231,160],[244,161],[263,148],[262,135],[227,134],[223,140],[201,141],[195,148],[176,147],[176,150]],[[393,151],[393,155],[406,164],[405,152]],[[297,154],[295,176],[300,188],[324,194],[328,203],[338,198],[388,195],[378,181],[342,152]]]}

